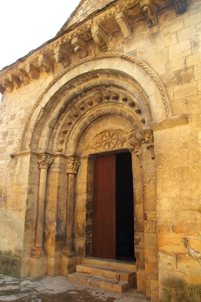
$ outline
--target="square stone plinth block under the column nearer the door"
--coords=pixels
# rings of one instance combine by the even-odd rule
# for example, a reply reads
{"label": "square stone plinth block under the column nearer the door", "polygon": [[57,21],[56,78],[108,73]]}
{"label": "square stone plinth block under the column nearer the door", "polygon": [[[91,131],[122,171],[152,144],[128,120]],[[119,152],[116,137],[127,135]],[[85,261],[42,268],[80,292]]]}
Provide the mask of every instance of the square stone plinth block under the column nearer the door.
{"label": "square stone plinth block under the column nearer the door", "polygon": [[61,266],[60,266],[60,273],[61,276],[67,276],[71,273],[76,272],[76,265],[77,265],[77,255],[68,254],[65,256],[63,253],[61,255]]}

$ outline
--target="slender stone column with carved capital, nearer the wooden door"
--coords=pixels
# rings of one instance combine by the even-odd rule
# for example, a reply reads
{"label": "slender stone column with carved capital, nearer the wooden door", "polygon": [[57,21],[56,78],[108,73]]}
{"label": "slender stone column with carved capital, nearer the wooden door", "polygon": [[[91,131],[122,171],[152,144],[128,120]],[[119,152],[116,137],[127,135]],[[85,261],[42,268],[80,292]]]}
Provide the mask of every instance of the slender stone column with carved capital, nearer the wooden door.
{"label": "slender stone column with carved capital, nearer the wooden door", "polygon": [[66,204],[66,241],[63,254],[68,256],[74,254],[72,246],[72,232],[74,222],[74,195],[75,195],[75,174],[80,166],[78,156],[69,156],[66,160],[66,169],[68,174],[68,191]]}

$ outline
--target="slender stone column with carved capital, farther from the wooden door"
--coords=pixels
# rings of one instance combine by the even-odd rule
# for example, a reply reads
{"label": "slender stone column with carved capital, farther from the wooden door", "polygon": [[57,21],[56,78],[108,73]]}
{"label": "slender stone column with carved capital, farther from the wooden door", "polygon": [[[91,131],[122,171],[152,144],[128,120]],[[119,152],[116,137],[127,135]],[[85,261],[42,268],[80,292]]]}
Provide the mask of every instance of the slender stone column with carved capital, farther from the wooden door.
{"label": "slender stone column with carved capital, farther from the wooden door", "polygon": [[53,157],[43,154],[38,158],[38,166],[40,169],[39,190],[38,190],[38,205],[37,205],[37,218],[36,218],[36,239],[35,247],[31,252],[31,256],[40,257],[45,255],[43,250],[43,224],[44,224],[44,206],[45,206],[45,193],[47,182],[47,170],[53,162]]}

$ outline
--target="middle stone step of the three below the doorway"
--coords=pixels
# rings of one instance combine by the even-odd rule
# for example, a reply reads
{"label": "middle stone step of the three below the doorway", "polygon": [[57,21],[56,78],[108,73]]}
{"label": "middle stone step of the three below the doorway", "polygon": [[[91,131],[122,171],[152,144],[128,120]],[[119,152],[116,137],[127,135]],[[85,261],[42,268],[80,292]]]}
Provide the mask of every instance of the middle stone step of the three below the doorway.
{"label": "middle stone step of the three below the doorway", "polygon": [[136,273],[130,270],[122,270],[113,267],[96,266],[92,264],[79,264],[76,266],[77,273],[84,273],[97,277],[127,281],[129,286],[135,286]]}

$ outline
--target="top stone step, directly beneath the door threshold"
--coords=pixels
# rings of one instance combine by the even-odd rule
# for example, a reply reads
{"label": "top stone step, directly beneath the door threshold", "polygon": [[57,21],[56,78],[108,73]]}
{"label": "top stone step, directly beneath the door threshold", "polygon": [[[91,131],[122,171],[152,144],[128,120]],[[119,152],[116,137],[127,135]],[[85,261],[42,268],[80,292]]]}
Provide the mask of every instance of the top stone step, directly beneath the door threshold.
{"label": "top stone step, directly beneath the door threshold", "polygon": [[81,264],[91,264],[91,265],[95,265],[95,266],[112,267],[112,268],[117,268],[117,269],[122,269],[122,270],[130,270],[132,272],[136,272],[136,264],[135,263],[113,260],[113,259],[87,257],[87,258],[82,258],[81,259]]}

